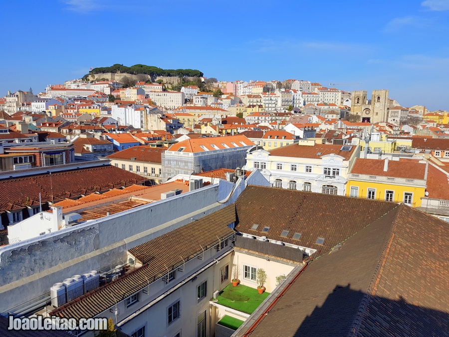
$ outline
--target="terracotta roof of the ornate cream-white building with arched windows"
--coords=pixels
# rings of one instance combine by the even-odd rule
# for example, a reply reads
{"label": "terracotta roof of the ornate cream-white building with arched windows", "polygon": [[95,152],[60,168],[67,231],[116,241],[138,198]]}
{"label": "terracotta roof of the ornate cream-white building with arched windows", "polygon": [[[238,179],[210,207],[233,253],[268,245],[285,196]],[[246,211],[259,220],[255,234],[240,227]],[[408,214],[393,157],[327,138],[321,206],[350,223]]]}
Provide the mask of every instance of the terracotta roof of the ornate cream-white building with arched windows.
{"label": "terracotta roof of the ornate cream-white building with arched windows", "polygon": [[349,160],[357,146],[351,146],[350,151],[341,151],[342,145],[315,144],[315,146],[291,144],[268,151],[272,156],[292,157],[292,158],[314,158],[334,153],[342,156],[344,160]]}

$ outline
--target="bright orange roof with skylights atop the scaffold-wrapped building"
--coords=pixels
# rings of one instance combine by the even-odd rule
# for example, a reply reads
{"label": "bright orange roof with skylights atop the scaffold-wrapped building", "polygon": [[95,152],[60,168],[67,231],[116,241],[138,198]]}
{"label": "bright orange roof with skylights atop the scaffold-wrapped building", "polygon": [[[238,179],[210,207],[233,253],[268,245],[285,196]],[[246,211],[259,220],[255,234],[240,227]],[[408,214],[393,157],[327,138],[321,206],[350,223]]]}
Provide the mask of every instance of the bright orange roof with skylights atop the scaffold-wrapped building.
{"label": "bright orange roof with skylights atop the scaffold-wrapped building", "polygon": [[[206,152],[201,146],[205,146],[209,151],[215,151],[217,148],[213,147],[212,144],[218,147],[218,149],[227,149],[234,147],[243,147],[255,145],[245,136],[225,136],[225,137],[204,137],[195,139],[186,139],[176,144],[173,144],[168,151],[178,151],[182,147],[184,150],[182,152]],[[223,144],[226,144],[224,146]],[[235,146],[235,145],[236,146]]]}

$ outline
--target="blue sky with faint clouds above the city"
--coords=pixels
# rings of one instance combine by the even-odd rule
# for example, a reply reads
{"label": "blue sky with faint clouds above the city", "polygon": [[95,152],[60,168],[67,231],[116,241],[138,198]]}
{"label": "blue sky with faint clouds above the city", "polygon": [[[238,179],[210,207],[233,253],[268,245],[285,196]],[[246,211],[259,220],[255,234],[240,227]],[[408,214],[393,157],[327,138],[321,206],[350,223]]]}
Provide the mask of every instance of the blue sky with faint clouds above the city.
{"label": "blue sky with faint clouds above the city", "polygon": [[385,88],[403,106],[449,110],[449,0],[3,1],[0,26],[1,96],[142,63]]}

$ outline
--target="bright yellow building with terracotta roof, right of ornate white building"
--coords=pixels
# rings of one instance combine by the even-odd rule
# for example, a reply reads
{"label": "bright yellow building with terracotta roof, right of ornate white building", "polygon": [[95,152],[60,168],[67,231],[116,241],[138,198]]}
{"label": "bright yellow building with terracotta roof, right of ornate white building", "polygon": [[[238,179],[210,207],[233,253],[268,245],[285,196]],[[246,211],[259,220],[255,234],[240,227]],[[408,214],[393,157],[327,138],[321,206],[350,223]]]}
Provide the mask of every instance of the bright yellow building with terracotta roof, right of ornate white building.
{"label": "bright yellow building with terracotta roof, right of ornate white building", "polygon": [[427,171],[427,161],[357,158],[348,174],[346,195],[420,207]]}

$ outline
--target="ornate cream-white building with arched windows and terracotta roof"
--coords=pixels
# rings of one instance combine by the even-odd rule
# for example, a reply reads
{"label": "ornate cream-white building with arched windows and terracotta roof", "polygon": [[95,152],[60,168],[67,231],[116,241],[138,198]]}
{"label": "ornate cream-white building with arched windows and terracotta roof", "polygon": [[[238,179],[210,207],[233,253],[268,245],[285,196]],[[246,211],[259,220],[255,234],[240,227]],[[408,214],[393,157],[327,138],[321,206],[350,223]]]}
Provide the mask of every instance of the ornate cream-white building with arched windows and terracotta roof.
{"label": "ornate cream-white building with arched windows and terracotta roof", "polygon": [[299,141],[271,151],[246,155],[246,169],[258,169],[273,187],[345,195],[347,174],[360,155],[354,145]]}

